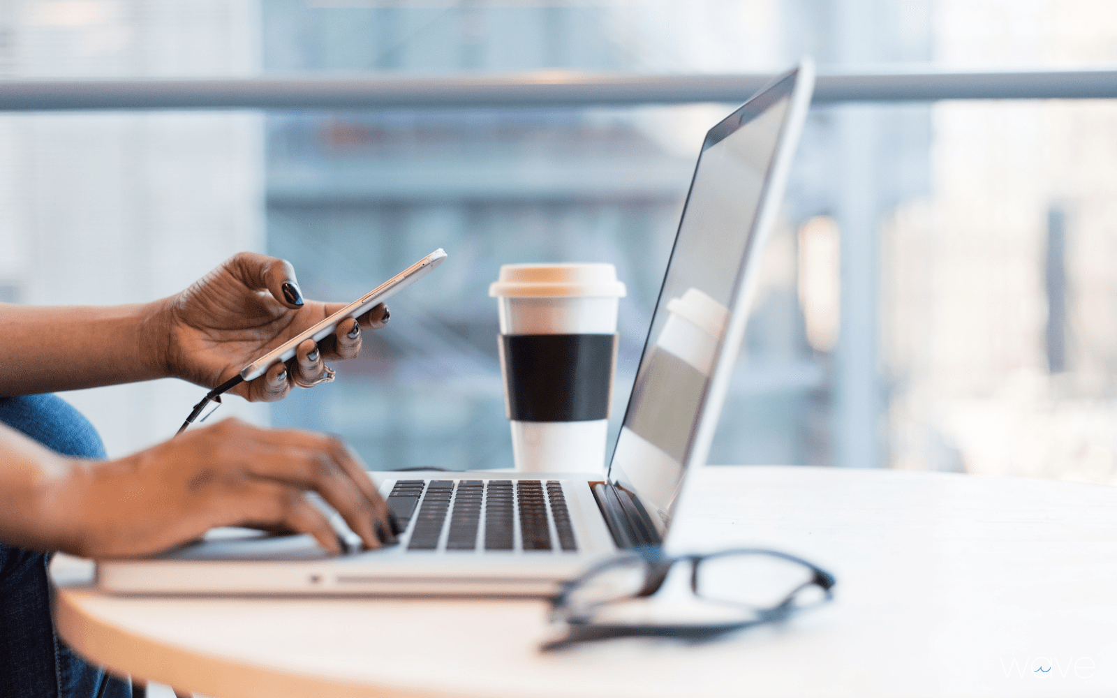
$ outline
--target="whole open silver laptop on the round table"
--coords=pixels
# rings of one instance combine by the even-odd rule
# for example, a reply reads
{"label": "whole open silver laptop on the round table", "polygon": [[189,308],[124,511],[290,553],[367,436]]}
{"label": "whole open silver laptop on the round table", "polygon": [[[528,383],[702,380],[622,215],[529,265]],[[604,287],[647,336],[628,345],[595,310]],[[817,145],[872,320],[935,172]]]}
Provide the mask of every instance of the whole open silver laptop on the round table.
{"label": "whole open silver laptop on the round table", "polygon": [[153,558],[99,562],[98,586],[546,596],[619,551],[661,545],[714,438],[813,84],[804,59],[706,134],[604,475],[370,472],[404,527],[398,545],[328,556],[306,535],[217,529]]}

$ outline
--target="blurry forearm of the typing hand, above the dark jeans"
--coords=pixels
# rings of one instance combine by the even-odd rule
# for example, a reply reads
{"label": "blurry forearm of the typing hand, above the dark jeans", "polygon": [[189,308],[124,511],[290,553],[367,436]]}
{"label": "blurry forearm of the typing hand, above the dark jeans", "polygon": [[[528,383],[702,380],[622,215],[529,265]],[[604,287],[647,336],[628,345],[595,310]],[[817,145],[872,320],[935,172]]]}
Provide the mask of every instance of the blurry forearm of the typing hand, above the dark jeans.
{"label": "blurry forearm of the typing hand, above the dark jeans", "polygon": [[0,423],[0,542],[38,551],[73,547],[58,511],[48,506],[73,462]]}

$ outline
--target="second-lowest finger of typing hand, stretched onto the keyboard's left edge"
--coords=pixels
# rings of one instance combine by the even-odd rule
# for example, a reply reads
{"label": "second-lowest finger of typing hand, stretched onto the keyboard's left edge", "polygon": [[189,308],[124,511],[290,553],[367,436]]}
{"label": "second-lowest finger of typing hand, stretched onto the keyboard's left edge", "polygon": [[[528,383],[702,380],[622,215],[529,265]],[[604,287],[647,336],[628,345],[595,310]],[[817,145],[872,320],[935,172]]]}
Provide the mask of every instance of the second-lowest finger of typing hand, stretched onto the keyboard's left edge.
{"label": "second-lowest finger of typing hand, stretched onto the keyboard's left edge", "polygon": [[[317,444],[312,444],[317,446]],[[262,458],[248,465],[248,472],[255,477],[294,485],[299,489],[313,489],[341,515],[353,533],[361,536],[365,547],[379,548],[383,534],[378,535],[378,526],[386,532],[382,513],[353,482],[326,448],[275,448],[262,450]],[[270,452],[269,452],[270,451]]]}

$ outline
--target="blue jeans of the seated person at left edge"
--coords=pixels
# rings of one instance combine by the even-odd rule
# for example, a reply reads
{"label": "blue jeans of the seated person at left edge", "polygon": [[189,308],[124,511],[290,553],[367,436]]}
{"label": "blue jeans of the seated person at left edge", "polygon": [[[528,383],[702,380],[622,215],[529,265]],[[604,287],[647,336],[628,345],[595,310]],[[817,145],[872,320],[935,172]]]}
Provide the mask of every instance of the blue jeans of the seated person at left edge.
{"label": "blue jeans of the seated person at left edge", "polygon": [[[0,398],[0,421],[59,453],[104,458],[82,413],[55,395]],[[128,682],[92,667],[55,632],[48,553],[0,543],[0,698],[126,698]]]}

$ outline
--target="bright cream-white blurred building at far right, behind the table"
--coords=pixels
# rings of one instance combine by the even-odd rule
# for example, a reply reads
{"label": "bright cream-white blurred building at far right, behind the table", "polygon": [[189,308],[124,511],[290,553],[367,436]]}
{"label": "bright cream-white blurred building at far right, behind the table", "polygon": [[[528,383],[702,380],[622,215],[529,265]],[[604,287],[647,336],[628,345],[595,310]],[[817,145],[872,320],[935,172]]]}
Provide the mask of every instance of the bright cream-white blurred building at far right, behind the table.
{"label": "bright cream-white blurred building at far right, behind the table", "polygon": [[[1117,58],[1117,8],[941,0],[948,67]],[[981,30],[981,40],[975,32]],[[943,103],[884,222],[895,467],[1117,482],[1117,104]]]}

